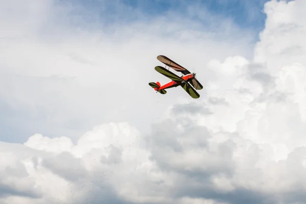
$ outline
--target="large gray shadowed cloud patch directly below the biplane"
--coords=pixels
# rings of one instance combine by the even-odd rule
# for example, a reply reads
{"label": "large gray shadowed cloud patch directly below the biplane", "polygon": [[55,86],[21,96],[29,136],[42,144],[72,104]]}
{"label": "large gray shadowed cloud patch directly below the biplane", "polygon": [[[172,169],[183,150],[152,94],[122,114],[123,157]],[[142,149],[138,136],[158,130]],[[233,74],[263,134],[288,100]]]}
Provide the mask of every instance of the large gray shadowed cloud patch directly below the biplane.
{"label": "large gray shadowed cloud patch directly below the biplane", "polygon": [[[180,119],[176,121],[179,122]],[[156,161],[161,169],[181,172],[190,177],[196,174],[230,174],[234,170],[232,153],[235,144],[231,140],[211,150],[213,144],[209,143],[209,139],[213,136],[206,127],[192,125],[190,129],[178,132],[176,124],[174,120],[168,120],[162,122],[160,126],[155,125],[154,131],[146,139],[151,152],[150,158]],[[198,157],[196,160],[202,163],[193,163],[193,154]],[[188,164],[188,161],[191,163]]]}

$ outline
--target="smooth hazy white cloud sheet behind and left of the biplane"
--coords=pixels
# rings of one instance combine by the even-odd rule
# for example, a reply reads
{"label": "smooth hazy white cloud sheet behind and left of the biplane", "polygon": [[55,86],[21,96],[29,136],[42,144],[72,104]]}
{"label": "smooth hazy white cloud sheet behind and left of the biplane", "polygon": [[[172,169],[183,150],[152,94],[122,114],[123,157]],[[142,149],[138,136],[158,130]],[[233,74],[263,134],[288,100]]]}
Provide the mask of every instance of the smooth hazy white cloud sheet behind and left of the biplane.
{"label": "smooth hazy white cloud sheet behind and left of the biplane", "polygon": [[[212,58],[251,55],[248,46],[252,33],[232,27],[231,22],[211,33],[213,23],[223,20],[209,13],[205,15],[207,29],[193,21],[188,12],[184,17],[169,12],[148,21],[122,24],[118,20],[108,25],[95,10],[88,13],[77,3],[41,2],[31,12],[28,7],[36,1],[29,2],[20,5],[29,14],[18,13],[20,8],[10,3],[7,7],[14,15],[6,12],[2,22],[14,22],[3,25],[8,33],[0,41],[4,45],[0,80],[6,84],[0,88],[0,109],[7,118],[3,121],[5,141],[25,141],[29,135],[40,133],[68,136],[75,142],[92,126],[109,121],[129,121],[146,131],[173,101],[189,98],[183,90],[173,89],[152,99],[154,91],[148,82],[168,82],[154,70],[160,64],[157,55],[180,61],[191,71],[196,68],[204,85],[205,67]],[[193,15],[200,15],[200,10],[196,11]],[[43,16],[38,17],[40,13]],[[146,16],[138,10],[129,13]],[[23,25],[20,19],[33,27],[19,27],[18,23]],[[99,20],[103,23],[98,24]],[[10,127],[15,123],[18,129]]]}

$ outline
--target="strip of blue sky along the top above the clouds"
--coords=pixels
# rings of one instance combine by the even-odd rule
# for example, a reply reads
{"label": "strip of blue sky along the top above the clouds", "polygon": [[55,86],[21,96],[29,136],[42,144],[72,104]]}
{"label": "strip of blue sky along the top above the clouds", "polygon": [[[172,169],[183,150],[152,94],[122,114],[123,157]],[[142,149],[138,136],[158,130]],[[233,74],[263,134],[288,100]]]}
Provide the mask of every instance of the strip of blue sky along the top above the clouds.
{"label": "strip of blue sky along the top above the clouds", "polygon": [[[159,16],[166,16],[169,13],[186,16],[198,22],[203,30],[218,29],[223,20],[232,20],[240,29],[251,31],[253,43],[259,40],[259,33],[264,29],[266,14],[262,12],[268,0],[59,0],[61,3],[69,4],[74,8],[70,16],[76,16],[77,20],[71,20],[70,24],[77,27],[96,26],[100,23],[113,26],[114,22],[126,24],[131,21],[150,21]],[[278,0],[277,0],[278,1]],[[287,2],[291,0],[285,0]],[[76,7],[78,5],[79,7]],[[196,7],[194,7],[196,5]],[[197,8],[198,13],[188,9]],[[216,16],[214,23],[212,19],[206,19],[208,15]],[[82,19],[79,16],[82,15]],[[199,16],[202,15],[202,16]],[[171,15],[170,15],[171,16]],[[168,16],[169,17],[169,16]],[[72,19],[72,18],[71,18]],[[220,20],[219,20],[220,19]],[[222,19],[222,20],[221,20]],[[84,23],[85,22],[85,23]],[[93,23],[93,24],[92,24]],[[112,33],[112,30],[108,32]]]}

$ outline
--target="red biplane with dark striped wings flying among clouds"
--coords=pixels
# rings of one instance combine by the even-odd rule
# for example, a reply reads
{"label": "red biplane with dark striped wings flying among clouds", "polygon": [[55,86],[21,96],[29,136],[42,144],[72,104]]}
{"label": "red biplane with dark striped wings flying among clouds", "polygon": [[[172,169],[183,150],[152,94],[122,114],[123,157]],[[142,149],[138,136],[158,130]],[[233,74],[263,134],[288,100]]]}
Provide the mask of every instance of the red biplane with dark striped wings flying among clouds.
{"label": "red biplane with dark striped wings flying among clouds", "polygon": [[[155,70],[159,73],[163,74],[165,77],[172,80],[171,82],[161,86],[159,82],[150,82],[150,87],[154,88],[157,92],[161,94],[166,94],[167,91],[165,89],[169,89],[172,87],[181,86],[192,98],[199,98],[200,95],[196,92],[196,90],[201,90],[203,86],[198,82],[195,78],[195,73],[191,73],[186,68],[182,67],[181,65],[177,64],[176,62],[170,60],[166,56],[159,55],[157,59],[164,63],[166,66],[156,66]],[[168,66],[168,69],[167,69]],[[169,68],[174,69],[175,71],[181,72],[182,77],[179,77],[175,73],[171,72]]]}

